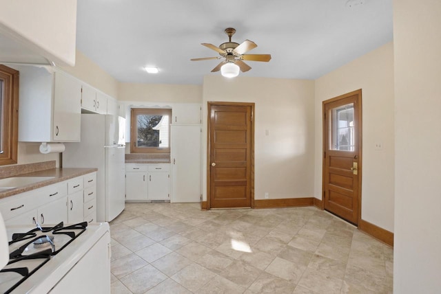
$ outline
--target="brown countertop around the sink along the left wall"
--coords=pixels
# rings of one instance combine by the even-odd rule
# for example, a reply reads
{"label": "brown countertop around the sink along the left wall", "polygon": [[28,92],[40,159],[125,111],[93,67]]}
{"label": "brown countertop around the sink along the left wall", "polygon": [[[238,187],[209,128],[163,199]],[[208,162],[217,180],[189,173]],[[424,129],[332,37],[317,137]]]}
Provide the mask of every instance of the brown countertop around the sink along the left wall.
{"label": "brown countertop around the sink along the left wall", "polygon": [[98,168],[50,168],[49,170],[40,170],[38,172],[19,174],[14,177],[54,177],[54,179],[47,179],[47,180],[39,181],[37,183],[23,185],[21,187],[12,188],[9,190],[4,190],[0,192],[0,199],[4,199],[9,196],[14,196],[38,188],[43,188],[47,185],[52,185],[54,183],[59,183],[61,181],[66,181],[68,179],[81,177],[84,174],[90,174],[91,172],[96,172],[96,171],[98,171]]}

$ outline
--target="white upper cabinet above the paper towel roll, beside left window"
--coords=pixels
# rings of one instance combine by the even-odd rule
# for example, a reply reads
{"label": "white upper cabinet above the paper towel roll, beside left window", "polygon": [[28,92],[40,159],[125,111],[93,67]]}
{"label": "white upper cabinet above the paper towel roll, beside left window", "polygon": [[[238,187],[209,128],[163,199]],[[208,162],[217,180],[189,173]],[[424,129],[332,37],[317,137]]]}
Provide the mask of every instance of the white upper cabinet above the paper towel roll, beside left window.
{"label": "white upper cabinet above the paper towel roll, beside left window", "polygon": [[20,71],[19,141],[79,142],[81,82],[53,67]]}

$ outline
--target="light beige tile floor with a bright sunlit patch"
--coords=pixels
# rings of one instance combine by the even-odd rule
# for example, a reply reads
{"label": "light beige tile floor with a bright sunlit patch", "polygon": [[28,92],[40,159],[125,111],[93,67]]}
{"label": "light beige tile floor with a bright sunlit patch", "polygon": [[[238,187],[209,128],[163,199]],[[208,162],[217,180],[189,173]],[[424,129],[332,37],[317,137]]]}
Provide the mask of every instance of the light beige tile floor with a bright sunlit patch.
{"label": "light beige tile floor with a bright sunlit patch", "polygon": [[316,207],[127,203],[112,294],[392,293],[393,250]]}

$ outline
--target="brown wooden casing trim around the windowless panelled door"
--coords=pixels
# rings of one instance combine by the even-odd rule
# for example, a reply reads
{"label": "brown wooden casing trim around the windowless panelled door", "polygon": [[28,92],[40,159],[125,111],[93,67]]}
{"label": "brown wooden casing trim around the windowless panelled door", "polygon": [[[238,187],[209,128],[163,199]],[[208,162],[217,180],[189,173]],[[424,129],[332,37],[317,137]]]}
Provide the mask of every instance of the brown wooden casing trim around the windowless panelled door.
{"label": "brown wooden casing trim around the windowless panelled door", "polygon": [[210,203],[210,186],[211,186],[211,168],[210,168],[210,156],[211,156],[211,144],[210,144],[210,124],[211,124],[211,114],[212,106],[251,106],[251,208],[254,208],[254,122],[256,117],[254,117],[255,104],[253,102],[207,102],[207,206],[206,209],[211,209]]}

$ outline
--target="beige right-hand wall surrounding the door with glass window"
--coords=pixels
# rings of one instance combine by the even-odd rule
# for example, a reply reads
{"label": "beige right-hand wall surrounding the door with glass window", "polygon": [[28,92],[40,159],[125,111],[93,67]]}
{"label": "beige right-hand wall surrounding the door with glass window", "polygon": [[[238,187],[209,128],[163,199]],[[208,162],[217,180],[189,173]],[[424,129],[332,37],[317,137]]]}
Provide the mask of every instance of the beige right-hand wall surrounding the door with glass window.
{"label": "beige right-hand wall surrounding the door with glass window", "polygon": [[[393,43],[316,80],[314,196],[322,196],[322,101],[362,89],[362,219],[393,231]],[[380,143],[382,150],[376,150]]]}

